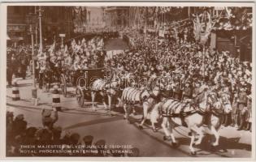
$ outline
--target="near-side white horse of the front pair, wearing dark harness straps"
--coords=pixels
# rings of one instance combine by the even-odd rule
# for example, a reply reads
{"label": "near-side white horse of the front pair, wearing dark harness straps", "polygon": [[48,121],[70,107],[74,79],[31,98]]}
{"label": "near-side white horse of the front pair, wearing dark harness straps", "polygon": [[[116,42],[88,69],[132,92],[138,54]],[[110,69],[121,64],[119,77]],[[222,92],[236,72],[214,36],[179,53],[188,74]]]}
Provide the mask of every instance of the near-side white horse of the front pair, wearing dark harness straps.
{"label": "near-side white horse of the front pair, wearing dark harness straps", "polygon": [[[219,116],[212,115],[210,112],[211,109],[215,109],[215,112],[223,111],[219,101],[215,102],[216,100],[212,100],[212,94],[206,90],[203,90],[199,97],[200,101],[198,102],[197,106],[193,106],[193,104],[189,102],[181,103],[178,100],[167,99],[158,103],[155,107],[160,111],[160,113],[162,113],[163,116],[162,127],[165,133],[164,139],[171,139],[174,147],[177,145],[175,136],[173,134],[173,129],[175,127],[174,124],[178,126],[182,126],[183,123],[186,124],[191,131],[189,149],[192,155],[196,154],[193,144],[197,145],[202,142],[202,125],[204,124],[205,120],[207,120],[207,126],[216,137],[216,141],[213,143],[213,145],[217,146],[219,144],[219,134],[217,132],[220,123]],[[205,117],[206,114],[208,114],[208,118]],[[198,139],[195,141],[197,135]]]}

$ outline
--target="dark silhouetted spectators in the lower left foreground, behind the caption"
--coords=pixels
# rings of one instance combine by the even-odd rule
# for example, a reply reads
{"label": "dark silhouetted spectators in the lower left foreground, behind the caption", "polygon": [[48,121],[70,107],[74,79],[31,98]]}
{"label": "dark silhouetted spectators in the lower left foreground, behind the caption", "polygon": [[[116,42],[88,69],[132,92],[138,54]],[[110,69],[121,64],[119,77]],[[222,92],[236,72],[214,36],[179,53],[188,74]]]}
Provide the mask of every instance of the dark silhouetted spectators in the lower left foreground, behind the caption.
{"label": "dark silhouetted spectators in the lower left foreground, behind the caption", "polygon": [[104,139],[55,126],[58,112],[42,110],[42,125],[29,126],[23,114],[7,112],[7,156],[139,156],[137,147],[109,148]]}

